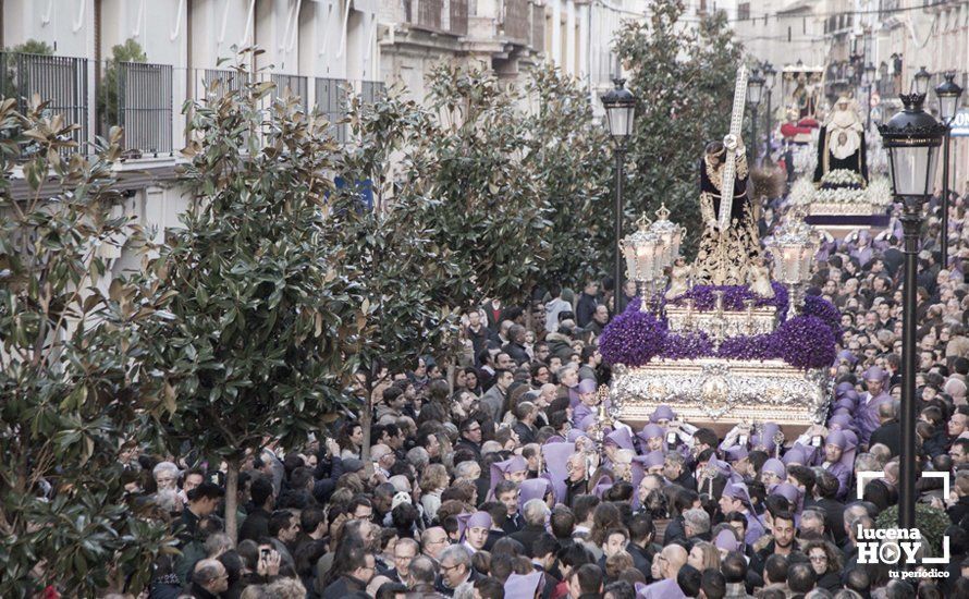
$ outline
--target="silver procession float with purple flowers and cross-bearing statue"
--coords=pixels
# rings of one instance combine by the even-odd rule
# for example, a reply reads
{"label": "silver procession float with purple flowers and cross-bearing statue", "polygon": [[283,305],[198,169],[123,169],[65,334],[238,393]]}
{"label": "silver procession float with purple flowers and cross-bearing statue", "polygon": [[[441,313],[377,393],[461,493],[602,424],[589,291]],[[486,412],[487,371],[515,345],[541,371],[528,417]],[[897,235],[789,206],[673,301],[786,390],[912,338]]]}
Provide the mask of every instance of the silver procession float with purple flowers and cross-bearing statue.
{"label": "silver procession float with purple flowers and cross-bearing statue", "polygon": [[684,229],[664,207],[623,240],[640,293],[600,338],[613,368],[604,419],[645,421],[669,406],[719,430],[770,420],[795,433],[827,415],[841,315],[805,296],[819,240],[801,215],[761,248],[740,138],[746,80],[741,68],[729,133],[701,159],[694,262],[679,256]]}

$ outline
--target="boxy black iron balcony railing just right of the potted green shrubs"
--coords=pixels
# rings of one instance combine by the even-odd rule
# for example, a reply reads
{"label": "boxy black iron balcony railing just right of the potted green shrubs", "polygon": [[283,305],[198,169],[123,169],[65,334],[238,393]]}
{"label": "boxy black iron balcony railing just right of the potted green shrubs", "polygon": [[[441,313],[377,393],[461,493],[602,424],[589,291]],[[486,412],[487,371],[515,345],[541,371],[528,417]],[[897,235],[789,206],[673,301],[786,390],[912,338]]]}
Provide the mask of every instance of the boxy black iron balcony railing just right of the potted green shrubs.
{"label": "boxy black iron balcony railing just right of the potted green shrubs", "polygon": [[172,154],[172,68],[118,64],[118,125],[125,149],[155,156]]}

